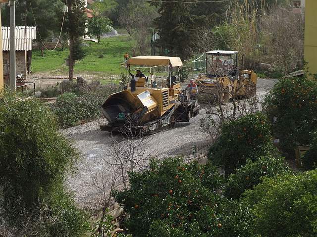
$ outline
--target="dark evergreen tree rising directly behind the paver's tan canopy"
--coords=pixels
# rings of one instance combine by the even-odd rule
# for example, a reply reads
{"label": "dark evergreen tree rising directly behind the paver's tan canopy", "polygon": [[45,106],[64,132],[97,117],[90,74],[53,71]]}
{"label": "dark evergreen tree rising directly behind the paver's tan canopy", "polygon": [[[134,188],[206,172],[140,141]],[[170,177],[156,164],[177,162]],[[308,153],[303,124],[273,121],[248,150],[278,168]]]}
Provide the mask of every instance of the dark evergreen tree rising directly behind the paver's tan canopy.
{"label": "dark evergreen tree rising directly behind the paver's tan canopy", "polygon": [[180,3],[155,2],[160,16],[155,19],[159,30],[159,46],[166,55],[187,59],[191,55],[197,32],[212,27],[222,19],[224,2]]}

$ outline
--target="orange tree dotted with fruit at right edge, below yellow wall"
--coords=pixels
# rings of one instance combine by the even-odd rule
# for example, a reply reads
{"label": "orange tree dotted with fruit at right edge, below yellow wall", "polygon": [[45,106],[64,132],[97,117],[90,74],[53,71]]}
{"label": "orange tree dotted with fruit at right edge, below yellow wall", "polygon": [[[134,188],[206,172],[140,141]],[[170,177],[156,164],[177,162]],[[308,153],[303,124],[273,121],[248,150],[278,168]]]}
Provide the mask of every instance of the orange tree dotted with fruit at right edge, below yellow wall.
{"label": "orange tree dotted with fruit at right edge, below yellow wall", "polygon": [[264,111],[281,149],[294,156],[298,145],[310,144],[317,130],[317,83],[306,78],[282,79],[264,99]]}

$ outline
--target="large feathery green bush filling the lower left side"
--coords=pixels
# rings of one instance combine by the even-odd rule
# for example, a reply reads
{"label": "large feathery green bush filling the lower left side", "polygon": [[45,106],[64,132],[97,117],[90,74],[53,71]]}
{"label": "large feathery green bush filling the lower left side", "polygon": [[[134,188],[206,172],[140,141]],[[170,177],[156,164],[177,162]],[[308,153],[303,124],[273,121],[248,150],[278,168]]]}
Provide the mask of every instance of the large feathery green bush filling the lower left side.
{"label": "large feathery green bush filling the lower left side", "polygon": [[14,236],[83,233],[83,214],[63,190],[76,151],[56,129],[38,100],[0,94],[0,220]]}

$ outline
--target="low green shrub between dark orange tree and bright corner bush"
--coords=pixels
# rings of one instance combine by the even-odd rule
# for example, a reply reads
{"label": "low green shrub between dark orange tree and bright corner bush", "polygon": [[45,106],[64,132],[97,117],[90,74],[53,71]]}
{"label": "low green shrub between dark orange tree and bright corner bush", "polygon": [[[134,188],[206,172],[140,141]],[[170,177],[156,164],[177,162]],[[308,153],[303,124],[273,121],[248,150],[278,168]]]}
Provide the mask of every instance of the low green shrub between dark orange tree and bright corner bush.
{"label": "low green shrub between dark orange tree and bright corner bush", "polygon": [[262,182],[263,177],[274,177],[288,172],[283,159],[266,155],[257,161],[247,161],[247,164],[228,177],[225,196],[238,199],[245,190],[253,189]]}

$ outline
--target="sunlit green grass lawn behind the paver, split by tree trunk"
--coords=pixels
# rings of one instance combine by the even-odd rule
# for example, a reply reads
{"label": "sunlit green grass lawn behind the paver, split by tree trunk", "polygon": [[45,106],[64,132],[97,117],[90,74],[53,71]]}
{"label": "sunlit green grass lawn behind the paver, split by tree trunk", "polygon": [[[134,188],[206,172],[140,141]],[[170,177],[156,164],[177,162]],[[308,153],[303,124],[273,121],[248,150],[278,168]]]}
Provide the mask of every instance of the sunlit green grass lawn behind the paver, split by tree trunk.
{"label": "sunlit green grass lawn behind the paver, split by tree trunk", "polygon": [[[100,45],[94,42],[85,42],[89,47],[85,47],[86,56],[77,61],[74,73],[104,72],[105,74],[119,75],[124,71],[120,65],[123,62],[125,52],[131,54],[133,41],[128,40],[128,36],[115,36],[102,39]],[[41,57],[39,49],[33,49],[32,72],[45,72],[58,70],[68,56],[68,49],[53,52],[45,51]],[[101,57],[103,55],[103,57]],[[57,73],[58,74],[58,73]]]}

